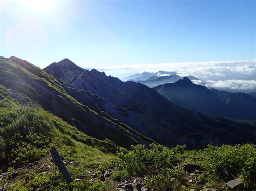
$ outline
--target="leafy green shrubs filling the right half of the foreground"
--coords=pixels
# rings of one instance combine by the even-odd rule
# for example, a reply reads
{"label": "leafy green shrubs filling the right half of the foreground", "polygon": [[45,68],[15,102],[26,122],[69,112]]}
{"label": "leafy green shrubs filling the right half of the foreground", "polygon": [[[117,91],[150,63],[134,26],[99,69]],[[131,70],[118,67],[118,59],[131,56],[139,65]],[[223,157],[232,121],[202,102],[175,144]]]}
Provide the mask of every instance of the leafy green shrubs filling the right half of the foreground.
{"label": "leafy green shrubs filling the right half of the foreground", "polygon": [[[231,176],[244,181],[246,188],[256,186],[256,147],[251,144],[211,146],[205,150],[187,151],[184,146],[167,148],[151,144],[148,150],[143,145],[133,146],[131,151],[121,148],[113,163],[116,164],[112,178],[116,181],[144,177],[144,183],[153,190],[200,188],[194,181],[188,182],[188,173],[183,165],[191,162],[198,165],[200,173],[194,179],[204,185],[226,189],[223,169]],[[198,158],[197,158],[198,157]],[[200,158],[201,157],[201,158]],[[179,159],[183,160],[179,160]],[[190,159],[193,158],[193,159]],[[196,159],[194,159],[196,158]]]}

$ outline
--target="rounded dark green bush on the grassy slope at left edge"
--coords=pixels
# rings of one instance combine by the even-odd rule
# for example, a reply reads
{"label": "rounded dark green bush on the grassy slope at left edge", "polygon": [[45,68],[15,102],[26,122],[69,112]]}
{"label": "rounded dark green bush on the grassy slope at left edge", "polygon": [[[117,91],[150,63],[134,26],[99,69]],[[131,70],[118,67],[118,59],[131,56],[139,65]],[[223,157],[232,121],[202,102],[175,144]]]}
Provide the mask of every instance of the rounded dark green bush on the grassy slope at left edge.
{"label": "rounded dark green bush on the grassy slope at left edge", "polygon": [[[14,115],[16,112],[17,115]],[[0,160],[17,167],[33,162],[46,153],[45,148],[49,147],[51,140],[51,125],[36,115],[36,109],[22,107],[16,112],[2,115],[5,126],[0,128],[0,145],[3,148]]]}

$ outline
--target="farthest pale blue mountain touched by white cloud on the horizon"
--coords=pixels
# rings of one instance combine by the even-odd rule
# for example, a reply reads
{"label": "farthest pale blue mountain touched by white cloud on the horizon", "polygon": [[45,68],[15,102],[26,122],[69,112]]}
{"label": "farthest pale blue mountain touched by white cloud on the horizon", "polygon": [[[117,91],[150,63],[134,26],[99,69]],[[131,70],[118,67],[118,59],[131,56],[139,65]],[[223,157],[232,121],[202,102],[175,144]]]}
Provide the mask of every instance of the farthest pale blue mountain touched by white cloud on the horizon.
{"label": "farthest pale blue mountain touched by white cloud on the horizon", "polygon": [[172,74],[177,74],[177,72],[168,72],[168,71],[163,71],[163,70],[160,70],[156,73],[143,72],[140,74],[133,74],[133,75],[127,76],[122,80],[123,81],[144,81],[144,80],[149,80],[149,79],[153,80],[160,76],[166,76],[166,75],[172,75]]}

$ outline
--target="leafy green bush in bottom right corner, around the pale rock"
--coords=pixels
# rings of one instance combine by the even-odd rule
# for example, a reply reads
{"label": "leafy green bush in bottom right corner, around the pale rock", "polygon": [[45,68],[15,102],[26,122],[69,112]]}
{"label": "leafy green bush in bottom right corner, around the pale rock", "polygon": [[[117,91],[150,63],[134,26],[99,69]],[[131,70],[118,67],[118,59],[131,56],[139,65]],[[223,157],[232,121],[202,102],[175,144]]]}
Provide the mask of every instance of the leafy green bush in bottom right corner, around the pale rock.
{"label": "leafy green bush in bottom right corner, around the pale rock", "polygon": [[248,187],[256,179],[256,147],[251,144],[208,146],[199,164],[209,174],[219,178],[224,169],[233,178],[244,180]]}

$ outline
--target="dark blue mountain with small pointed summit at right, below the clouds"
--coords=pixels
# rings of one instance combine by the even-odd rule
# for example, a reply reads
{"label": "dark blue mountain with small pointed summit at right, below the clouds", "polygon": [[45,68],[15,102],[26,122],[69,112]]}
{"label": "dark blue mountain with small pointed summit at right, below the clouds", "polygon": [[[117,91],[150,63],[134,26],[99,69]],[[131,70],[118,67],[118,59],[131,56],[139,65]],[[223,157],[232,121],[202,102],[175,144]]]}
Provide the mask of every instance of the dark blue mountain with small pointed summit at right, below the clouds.
{"label": "dark blue mountain with small pointed summit at right, below the clouds", "polygon": [[154,89],[175,104],[208,115],[256,120],[256,98],[248,94],[207,89],[187,77]]}

